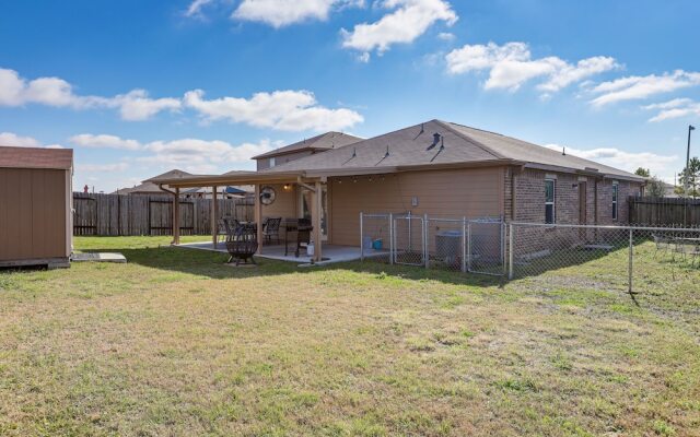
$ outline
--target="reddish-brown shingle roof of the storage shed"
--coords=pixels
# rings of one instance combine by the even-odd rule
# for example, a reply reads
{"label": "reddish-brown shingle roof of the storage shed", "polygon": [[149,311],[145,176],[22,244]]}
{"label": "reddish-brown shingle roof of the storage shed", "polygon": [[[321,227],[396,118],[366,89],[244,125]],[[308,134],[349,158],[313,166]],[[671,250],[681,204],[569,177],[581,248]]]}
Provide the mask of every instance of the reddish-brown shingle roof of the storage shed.
{"label": "reddish-brown shingle roof of the storage shed", "polygon": [[0,145],[0,167],[70,170],[73,167],[73,150]]}

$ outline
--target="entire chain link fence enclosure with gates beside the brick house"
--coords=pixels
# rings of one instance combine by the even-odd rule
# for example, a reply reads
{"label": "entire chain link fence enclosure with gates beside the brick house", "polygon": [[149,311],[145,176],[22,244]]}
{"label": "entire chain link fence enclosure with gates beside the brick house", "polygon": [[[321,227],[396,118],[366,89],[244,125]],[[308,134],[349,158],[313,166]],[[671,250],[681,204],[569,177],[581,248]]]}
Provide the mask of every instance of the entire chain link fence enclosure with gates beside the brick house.
{"label": "entire chain link fence enclosure with gates beside the brick house", "polygon": [[[635,277],[657,280],[700,268],[699,227],[506,223],[500,217],[360,214],[362,260],[505,276],[557,272],[632,293]],[[640,268],[634,270],[635,264]]]}

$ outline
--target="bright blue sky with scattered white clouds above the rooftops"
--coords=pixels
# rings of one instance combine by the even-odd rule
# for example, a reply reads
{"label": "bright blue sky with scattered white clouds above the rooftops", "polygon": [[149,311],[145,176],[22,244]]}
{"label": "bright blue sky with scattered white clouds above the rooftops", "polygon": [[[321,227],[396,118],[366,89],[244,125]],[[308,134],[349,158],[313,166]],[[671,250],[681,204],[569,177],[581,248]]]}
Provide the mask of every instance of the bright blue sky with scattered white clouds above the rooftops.
{"label": "bright blue sky with scattered white clouds above the rooftops", "polygon": [[698,16],[697,1],[3,2],[0,143],[73,147],[75,187],[113,191],[440,118],[673,181],[700,123]]}

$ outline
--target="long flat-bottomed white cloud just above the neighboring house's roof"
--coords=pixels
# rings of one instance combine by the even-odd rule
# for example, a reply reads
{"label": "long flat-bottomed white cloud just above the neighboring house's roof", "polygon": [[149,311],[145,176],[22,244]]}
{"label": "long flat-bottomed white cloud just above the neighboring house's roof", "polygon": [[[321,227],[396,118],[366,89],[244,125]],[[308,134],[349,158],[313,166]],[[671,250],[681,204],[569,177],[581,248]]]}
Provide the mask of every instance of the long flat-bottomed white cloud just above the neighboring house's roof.
{"label": "long flat-bottomed white cloud just above the neighboring house's roof", "polygon": [[249,99],[221,97],[207,101],[203,96],[201,90],[190,91],[185,94],[184,103],[209,120],[226,119],[287,131],[343,130],[363,121],[354,110],[318,106],[308,91],[257,93]]}

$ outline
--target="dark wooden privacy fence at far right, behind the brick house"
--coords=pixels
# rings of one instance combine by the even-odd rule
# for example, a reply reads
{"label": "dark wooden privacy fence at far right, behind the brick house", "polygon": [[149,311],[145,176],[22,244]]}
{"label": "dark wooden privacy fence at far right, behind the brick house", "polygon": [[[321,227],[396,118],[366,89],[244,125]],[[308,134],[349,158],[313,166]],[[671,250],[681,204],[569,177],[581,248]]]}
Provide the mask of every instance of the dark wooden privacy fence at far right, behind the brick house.
{"label": "dark wooden privacy fence at far right, behind the brick house", "polygon": [[658,226],[700,226],[700,199],[630,198],[630,223]]}

